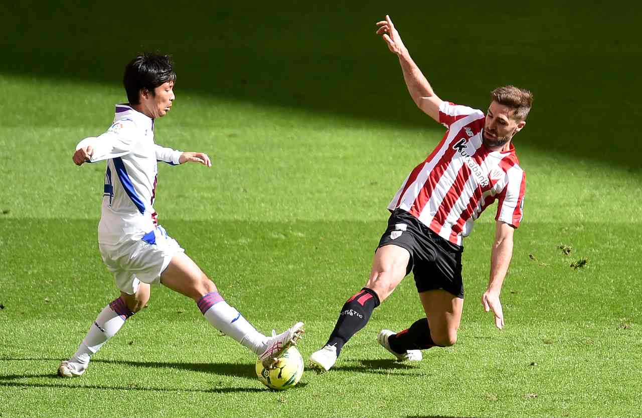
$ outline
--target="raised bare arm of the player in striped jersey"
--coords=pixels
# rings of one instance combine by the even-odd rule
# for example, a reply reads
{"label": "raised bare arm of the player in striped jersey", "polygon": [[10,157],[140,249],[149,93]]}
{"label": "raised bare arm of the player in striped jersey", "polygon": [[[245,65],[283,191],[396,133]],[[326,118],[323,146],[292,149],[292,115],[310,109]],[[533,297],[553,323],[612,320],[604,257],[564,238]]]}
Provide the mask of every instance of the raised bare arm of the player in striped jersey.
{"label": "raised bare arm of the player in striped jersey", "polygon": [[410,53],[401,41],[399,32],[392,24],[390,16],[386,15],[385,21],[377,22],[377,35],[383,35],[383,40],[388,45],[390,52],[399,57],[403,78],[415,104],[429,117],[439,122],[439,105],[441,105],[442,99],[435,94],[424,74],[410,58]]}

